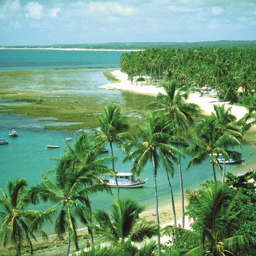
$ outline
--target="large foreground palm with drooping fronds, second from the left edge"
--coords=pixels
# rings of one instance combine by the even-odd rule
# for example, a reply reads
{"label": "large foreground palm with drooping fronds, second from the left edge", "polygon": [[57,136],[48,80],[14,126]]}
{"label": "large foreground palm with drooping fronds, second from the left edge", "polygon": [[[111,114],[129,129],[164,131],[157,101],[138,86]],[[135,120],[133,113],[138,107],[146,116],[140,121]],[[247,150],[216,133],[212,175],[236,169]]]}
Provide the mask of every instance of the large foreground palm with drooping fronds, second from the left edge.
{"label": "large foreground palm with drooping fronds, second from the left edge", "polygon": [[[54,172],[55,180],[52,181],[47,175],[42,173],[43,180],[40,184],[32,186],[31,198],[35,202],[38,196],[44,201],[50,201],[54,205],[42,212],[36,219],[38,222],[40,218],[52,218],[57,215],[55,219],[55,233],[58,238],[68,233],[67,256],[70,250],[70,238],[72,237],[76,250],[79,250],[77,238],[77,218],[82,224],[87,225],[90,221],[90,208],[88,195],[108,189],[108,185],[104,183],[94,172],[82,172],[76,169],[70,154],[65,154],[58,159],[58,165],[49,170]],[[94,181],[98,182],[94,184]],[[93,184],[84,187],[84,184]]]}

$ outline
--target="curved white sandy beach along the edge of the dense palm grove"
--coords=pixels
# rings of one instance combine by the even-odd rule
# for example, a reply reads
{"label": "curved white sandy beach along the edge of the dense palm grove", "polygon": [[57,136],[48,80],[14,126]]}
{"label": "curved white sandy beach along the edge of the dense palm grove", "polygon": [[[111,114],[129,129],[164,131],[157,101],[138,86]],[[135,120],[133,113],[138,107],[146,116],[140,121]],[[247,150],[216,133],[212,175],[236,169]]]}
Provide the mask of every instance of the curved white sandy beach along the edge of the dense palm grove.
{"label": "curved white sandy beach along the edge of the dense palm grove", "polygon": [[[112,72],[112,74],[116,77],[116,79],[119,79],[120,82],[114,84],[105,84],[101,86],[102,88],[109,90],[126,90],[145,95],[157,95],[159,92],[164,93],[162,87],[157,87],[154,85],[141,85],[140,82],[136,84],[136,81],[131,83],[131,81],[128,80],[127,74],[122,73],[120,70],[115,70]],[[188,102],[199,105],[202,109],[202,113],[205,115],[210,115],[214,110],[213,104],[225,104],[227,108],[232,107],[231,112],[236,116],[237,119],[241,119],[241,117],[243,117],[246,113],[246,108],[244,107],[229,105],[228,102],[218,102],[218,99],[209,96],[201,97],[200,93],[190,93]]]}

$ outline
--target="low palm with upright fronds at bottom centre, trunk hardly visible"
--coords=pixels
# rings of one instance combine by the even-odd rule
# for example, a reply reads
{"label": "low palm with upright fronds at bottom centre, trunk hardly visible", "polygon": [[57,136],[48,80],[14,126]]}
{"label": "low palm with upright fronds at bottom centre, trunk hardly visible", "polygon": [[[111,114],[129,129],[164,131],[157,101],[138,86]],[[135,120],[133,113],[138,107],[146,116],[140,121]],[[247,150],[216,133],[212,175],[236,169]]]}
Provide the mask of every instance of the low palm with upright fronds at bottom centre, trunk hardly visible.
{"label": "low palm with upright fronds at bottom centre, trunk hardly visible", "polygon": [[100,209],[95,212],[95,219],[99,224],[94,226],[96,233],[102,242],[119,247],[122,255],[136,255],[132,253],[138,250],[134,244],[143,245],[146,239],[158,232],[157,226],[139,222],[139,215],[144,209],[144,206],[132,199],[116,199],[112,203],[110,214]]}

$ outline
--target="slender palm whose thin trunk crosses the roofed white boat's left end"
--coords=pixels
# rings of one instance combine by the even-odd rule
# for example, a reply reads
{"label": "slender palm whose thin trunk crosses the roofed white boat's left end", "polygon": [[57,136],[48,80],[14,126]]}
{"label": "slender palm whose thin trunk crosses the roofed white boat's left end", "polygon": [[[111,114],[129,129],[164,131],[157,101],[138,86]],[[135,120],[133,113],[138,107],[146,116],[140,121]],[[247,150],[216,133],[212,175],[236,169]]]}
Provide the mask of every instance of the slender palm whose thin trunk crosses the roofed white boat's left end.
{"label": "slender palm whose thin trunk crosses the roofed white boat's left end", "polygon": [[[113,144],[117,146],[122,145],[122,140],[125,138],[131,138],[131,134],[127,131],[128,123],[125,116],[121,113],[121,110],[116,105],[109,105],[104,107],[104,113],[102,116],[96,116],[99,119],[100,131],[94,129],[94,140],[96,142],[102,142],[102,145],[109,143],[112,157],[112,170],[115,172],[115,162],[113,154]],[[116,180],[116,198],[119,198],[119,187]]]}

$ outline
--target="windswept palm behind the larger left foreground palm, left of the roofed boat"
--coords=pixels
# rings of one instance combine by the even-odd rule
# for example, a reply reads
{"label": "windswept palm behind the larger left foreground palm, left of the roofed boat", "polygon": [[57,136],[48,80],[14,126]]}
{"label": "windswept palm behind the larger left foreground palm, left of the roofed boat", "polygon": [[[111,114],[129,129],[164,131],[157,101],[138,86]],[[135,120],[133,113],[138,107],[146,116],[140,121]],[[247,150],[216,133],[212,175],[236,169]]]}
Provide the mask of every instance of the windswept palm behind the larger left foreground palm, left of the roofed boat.
{"label": "windswept palm behind the larger left foreground palm, left of the roofed boat", "polygon": [[[112,173],[112,171],[106,167],[106,165],[112,161],[112,158],[99,158],[102,151],[102,145],[96,144],[93,141],[93,136],[89,136],[85,132],[81,132],[73,146],[70,146],[68,143],[66,144],[66,151],[70,153],[70,156],[75,163],[76,171],[81,171],[81,175],[84,175],[86,172],[94,172],[95,174],[95,179],[88,179],[87,182],[84,183],[84,188],[92,186],[93,183],[98,183],[98,176],[100,177],[102,174]],[[109,186],[106,186],[105,189],[107,192],[111,193],[111,188]],[[86,201],[86,206],[91,210],[89,200]],[[92,222],[90,215],[88,216],[88,221],[89,223]],[[90,235],[91,244],[93,245],[93,233],[90,225],[88,225],[88,233]]]}

